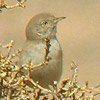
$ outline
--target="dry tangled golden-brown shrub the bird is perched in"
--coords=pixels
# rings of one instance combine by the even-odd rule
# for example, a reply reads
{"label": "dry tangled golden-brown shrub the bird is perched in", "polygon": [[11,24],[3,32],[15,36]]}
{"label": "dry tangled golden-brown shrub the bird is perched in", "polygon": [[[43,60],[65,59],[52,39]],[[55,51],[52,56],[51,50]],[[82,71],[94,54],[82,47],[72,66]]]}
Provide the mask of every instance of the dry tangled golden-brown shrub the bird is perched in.
{"label": "dry tangled golden-brown shrub the bird is perched in", "polygon": [[[15,53],[11,53],[13,41],[7,45],[1,45],[1,48],[7,48],[7,54],[3,54],[0,51],[0,100],[95,100],[97,95],[100,95],[100,84],[96,87],[89,87],[88,82],[83,87],[78,85],[77,82],[77,64],[73,61],[71,64],[72,77],[62,80],[60,85],[54,81],[53,86],[49,86],[49,89],[45,89],[34,82],[30,78],[31,68],[41,67],[44,64],[48,64],[50,40],[45,39],[46,48],[44,61],[40,65],[33,66],[31,60],[28,64],[19,67],[18,63],[13,59],[19,55],[21,49]],[[22,75],[21,70],[24,69],[28,72],[27,75]],[[25,81],[33,83],[34,87],[29,89],[25,84]],[[95,91],[95,93],[94,93]]]}

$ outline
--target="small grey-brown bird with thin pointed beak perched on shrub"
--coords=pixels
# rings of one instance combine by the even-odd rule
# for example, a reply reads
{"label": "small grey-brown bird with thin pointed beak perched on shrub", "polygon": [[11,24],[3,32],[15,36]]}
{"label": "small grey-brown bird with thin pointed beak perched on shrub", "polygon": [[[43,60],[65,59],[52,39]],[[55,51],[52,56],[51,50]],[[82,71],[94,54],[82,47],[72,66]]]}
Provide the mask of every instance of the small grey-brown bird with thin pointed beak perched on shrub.
{"label": "small grey-brown bird with thin pointed beak perched on shrub", "polygon": [[[32,17],[26,27],[26,42],[20,54],[20,65],[31,60],[39,65],[45,58],[45,39],[50,40],[48,64],[31,69],[31,79],[48,88],[53,81],[59,81],[62,74],[62,49],[57,40],[57,23],[65,17],[56,18],[50,13],[41,13]],[[25,73],[25,72],[24,72]],[[27,82],[30,87],[32,84]]]}

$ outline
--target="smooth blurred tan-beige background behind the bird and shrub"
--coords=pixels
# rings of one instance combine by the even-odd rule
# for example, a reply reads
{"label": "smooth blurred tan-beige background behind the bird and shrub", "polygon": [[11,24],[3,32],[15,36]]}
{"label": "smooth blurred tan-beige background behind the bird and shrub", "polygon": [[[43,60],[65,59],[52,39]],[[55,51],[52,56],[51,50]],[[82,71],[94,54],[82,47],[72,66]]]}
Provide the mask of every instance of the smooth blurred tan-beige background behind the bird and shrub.
{"label": "smooth blurred tan-beige background behind the bird and shrub", "polygon": [[[15,0],[6,0],[7,5]],[[63,49],[63,76],[71,77],[72,60],[78,63],[78,81],[95,86],[100,81],[100,0],[27,0],[25,8],[3,9],[0,13],[0,43],[14,40],[13,51],[22,48],[25,28],[38,13],[67,17],[59,22],[57,37]]]}

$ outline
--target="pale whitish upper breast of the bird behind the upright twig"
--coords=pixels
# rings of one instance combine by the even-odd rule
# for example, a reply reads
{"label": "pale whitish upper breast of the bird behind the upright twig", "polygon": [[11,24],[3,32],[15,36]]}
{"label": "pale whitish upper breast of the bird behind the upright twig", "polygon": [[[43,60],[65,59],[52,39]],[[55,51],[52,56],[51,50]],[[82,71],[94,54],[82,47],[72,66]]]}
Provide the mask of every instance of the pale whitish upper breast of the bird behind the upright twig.
{"label": "pale whitish upper breast of the bird behind the upright twig", "polygon": [[[62,50],[57,40],[50,41],[50,48],[48,56],[53,60],[62,59]],[[40,64],[44,61],[46,55],[46,44],[45,42],[34,43],[33,41],[27,41],[24,45],[21,53],[21,64],[27,63],[32,60],[33,64]]]}

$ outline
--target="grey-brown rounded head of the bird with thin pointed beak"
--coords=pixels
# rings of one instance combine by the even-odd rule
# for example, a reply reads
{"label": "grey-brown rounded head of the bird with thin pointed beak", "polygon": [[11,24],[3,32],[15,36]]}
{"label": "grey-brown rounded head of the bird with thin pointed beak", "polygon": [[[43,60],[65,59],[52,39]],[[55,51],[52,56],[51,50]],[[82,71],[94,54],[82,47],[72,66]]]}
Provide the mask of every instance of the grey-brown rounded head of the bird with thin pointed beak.
{"label": "grey-brown rounded head of the bird with thin pointed beak", "polygon": [[26,27],[28,40],[56,37],[56,26],[65,17],[56,18],[50,13],[38,14],[29,21]]}

